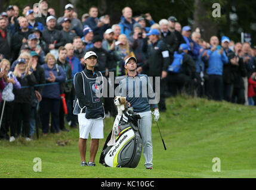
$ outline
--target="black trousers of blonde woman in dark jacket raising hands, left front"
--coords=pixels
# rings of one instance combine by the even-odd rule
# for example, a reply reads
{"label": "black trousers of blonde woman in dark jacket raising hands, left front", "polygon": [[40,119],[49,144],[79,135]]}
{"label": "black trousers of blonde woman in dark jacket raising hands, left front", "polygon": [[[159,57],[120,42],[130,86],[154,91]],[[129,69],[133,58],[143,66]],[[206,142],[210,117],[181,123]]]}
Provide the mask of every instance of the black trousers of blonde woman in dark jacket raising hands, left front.
{"label": "black trousers of blonde woman in dark jacket raising hands, left front", "polygon": [[30,103],[14,103],[14,111],[11,123],[11,136],[18,137],[21,130],[21,122],[23,122],[23,134],[29,137],[29,119],[30,119],[31,105]]}

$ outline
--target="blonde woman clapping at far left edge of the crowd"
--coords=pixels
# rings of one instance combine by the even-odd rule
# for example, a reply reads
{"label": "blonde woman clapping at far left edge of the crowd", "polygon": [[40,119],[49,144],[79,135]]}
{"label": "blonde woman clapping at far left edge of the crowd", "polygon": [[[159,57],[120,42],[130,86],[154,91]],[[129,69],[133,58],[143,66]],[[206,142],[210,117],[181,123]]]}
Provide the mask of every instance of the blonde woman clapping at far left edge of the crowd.
{"label": "blonde woman clapping at far left edge of the crowd", "polygon": [[[1,124],[1,136],[5,138],[6,140],[9,140],[9,126],[11,125],[11,117],[13,116],[13,110],[14,110],[14,93],[13,89],[20,89],[20,83],[18,82],[17,78],[13,74],[13,72],[10,71],[11,64],[7,59],[2,59],[0,63],[0,68],[2,72],[4,72],[5,77],[5,88],[2,91],[2,102],[5,100],[5,106],[4,106],[4,115],[2,118],[2,124]],[[1,112],[3,109],[3,104],[1,107]],[[13,138],[10,138],[10,142],[14,140]]]}

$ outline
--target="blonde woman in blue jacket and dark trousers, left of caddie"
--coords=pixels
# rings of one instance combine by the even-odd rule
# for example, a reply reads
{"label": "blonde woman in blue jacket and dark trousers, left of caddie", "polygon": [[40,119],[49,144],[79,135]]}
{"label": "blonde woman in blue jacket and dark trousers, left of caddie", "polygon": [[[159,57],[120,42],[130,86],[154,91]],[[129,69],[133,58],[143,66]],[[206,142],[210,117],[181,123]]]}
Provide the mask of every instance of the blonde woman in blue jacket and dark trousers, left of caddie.
{"label": "blonde woman in blue jacket and dark trousers, left of caddie", "polygon": [[42,91],[41,111],[42,111],[42,132],[43,136],[47,136],[49,131],[49,117],[51,113],[51,132],[58,133],[59,113],[60,113],[60,88],[61,84],[66,80],[66,73],[60,65],[56,64],[53,54],[47,53],[45,56],[45,64],[42,65],[45,71],[46,83],[54,83],[45,85]]}

